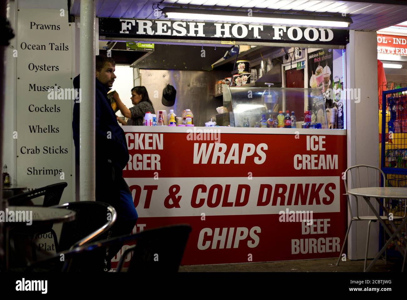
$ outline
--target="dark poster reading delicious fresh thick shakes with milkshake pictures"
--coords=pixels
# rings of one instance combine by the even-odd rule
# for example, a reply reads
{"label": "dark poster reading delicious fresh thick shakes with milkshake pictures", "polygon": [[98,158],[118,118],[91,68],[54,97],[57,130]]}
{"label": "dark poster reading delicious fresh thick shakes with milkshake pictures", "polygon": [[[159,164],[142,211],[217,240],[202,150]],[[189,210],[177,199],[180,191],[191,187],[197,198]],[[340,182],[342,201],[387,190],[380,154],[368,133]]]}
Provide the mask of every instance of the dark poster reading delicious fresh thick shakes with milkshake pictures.
{"label": "dark poster reading delicious fresh thick shakes with milkshake pictures", "polygon": [[321,91],[325,107],[332,106],[332,93],[328,91],[333,85],[332,65],[332,49],[319,49],[308,53],[309,86]]}

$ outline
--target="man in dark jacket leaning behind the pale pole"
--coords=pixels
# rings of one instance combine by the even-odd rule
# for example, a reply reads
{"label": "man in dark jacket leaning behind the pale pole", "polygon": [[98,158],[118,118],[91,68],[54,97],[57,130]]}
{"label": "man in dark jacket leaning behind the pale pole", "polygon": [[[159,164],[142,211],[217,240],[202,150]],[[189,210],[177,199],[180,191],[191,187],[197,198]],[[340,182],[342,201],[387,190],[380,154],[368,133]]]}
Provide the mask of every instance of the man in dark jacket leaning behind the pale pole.
{"label": "man in dark jacket leaning behind the pale pole", "polygon": [[[96,96],[95,96],[95,160],[96,160],[96,201],[112,205],[118,218],[107,235],[110,238],[131,233],[137,221],[137,212],[129,187],[123,179],[123,169],[129,161],[129,152],[125,133],[117,123],[116,115],[111,107],[107,92],[113,85],[115,62],[112,58],[96,56]],[[74,78],[74,88],[79,89],[79,75]],[[86,99],[81,99],[81,102]],[[79,105],[75,102],[73,110],[73,138],[75,159],[79,165]],[[107,238],[107,235],[104,238]],[[116,255],[117,249],[110,247],[104,271],[110,269],[110,260]]]}

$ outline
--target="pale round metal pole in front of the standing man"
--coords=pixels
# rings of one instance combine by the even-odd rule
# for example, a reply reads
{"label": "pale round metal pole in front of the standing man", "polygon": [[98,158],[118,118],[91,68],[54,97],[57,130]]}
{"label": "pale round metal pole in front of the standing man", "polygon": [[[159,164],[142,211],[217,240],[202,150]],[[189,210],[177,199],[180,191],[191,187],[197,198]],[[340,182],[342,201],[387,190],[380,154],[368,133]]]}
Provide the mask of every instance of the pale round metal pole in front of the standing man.
{"label": "pale round metal pole in front of the standing man", "polygon": [[81,0],[79,198],[95,201],[95,0]]}

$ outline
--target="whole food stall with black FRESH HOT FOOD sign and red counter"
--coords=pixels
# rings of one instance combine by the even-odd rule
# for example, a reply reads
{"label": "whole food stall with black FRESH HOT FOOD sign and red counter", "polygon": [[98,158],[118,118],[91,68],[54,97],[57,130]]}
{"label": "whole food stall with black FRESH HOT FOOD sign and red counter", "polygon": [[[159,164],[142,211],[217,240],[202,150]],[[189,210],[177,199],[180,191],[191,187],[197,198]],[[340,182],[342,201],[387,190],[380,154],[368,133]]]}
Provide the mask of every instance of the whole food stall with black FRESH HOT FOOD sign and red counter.
{"label": "whole food stall with black FRESH HOT FOOD sign and red counter", "polygon": [[[228,30],[230,37],[225,39]],[[193,108],[194,96],[179,96],[185,95],[187,87],[177,85],[181,81],[174,78],[179,73],[170,71],[180,93],[166,113],[174,109],[182,116],[191,109],[194,126],[182,126],[182,118],[177,123],[181,126],[171,127],[167,118],[167,126],[123,127],[129,149],[123,177],[139,215],[133,232],[190,224],[182,264],[339,255],[346,232],[342,175],[347,148],[345,110],[341,127],[337,114],[346,101],[337,91],[344,88],[347,30],[100,18],[99,39],[184,43],[185,47],[199,42],[202,49],[208,43],[255,46],[214,62],[206,71],[216,74],[218,68],[223,73],[221,82],[217,76],[206,82],[210,91],[206,96],[212,102],[199,110]],[[292,52],[287,51],[290,47]],[[296,54],[296,48],[302,54]],[[315,51],[321,54],[320,60],[331,59],[329,68],[328,63],[311,67],[311,61],[319,62],[319,54],[308,56]],[[267,56],[273,64],[269,70],[264,64]],[[237,60],[246,60],[248,66],[239,67]],[[227,73],[221,65],[230,67]],[[257,80],[244,78],[246,84],[241,86],[241,80],[233,80],[232,73],[251,75],[250,68],[255,67],[263,68]],[[302,72],[301,88],[288,88],[286,73],[294,69]],[[159,78],[147,68],[140,74],[144,74],[140,85],[146,87],[148,80]],[[222,79],[229,77],[232,80],[226,85]],[[189,78],[191,85],[194,78]],[[221,126],[204,127],[213,124],[210,118]],[[118,255],[113,261],[119,259]]]}

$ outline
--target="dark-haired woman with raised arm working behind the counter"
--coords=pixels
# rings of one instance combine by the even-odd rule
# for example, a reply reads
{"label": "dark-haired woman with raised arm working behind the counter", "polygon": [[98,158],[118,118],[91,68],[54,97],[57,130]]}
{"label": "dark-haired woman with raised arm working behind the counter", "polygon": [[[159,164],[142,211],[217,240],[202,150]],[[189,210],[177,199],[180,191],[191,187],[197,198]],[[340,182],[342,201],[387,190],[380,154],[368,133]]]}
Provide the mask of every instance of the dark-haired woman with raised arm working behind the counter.
{"label": "dark-haired woman with raised arm working behind the counter", "polygon": [[149,93],[147,93],[147,89],[145,87],[133,87],[131,89],[131,103],[133,103],[133,107],[129,109],[123,104],[122,100],[119,98],[119,94],[117,92],[114,93],[113,99],[116,101],[118,108],[120,109],[123,116],[129,118],[129,120],[124,121],[120,117],[116,117],[117,120],[123,125],[136,125],[142,126],[144,122],[144,116],[147,111],[154,113],[153,103],[149,98]]}

